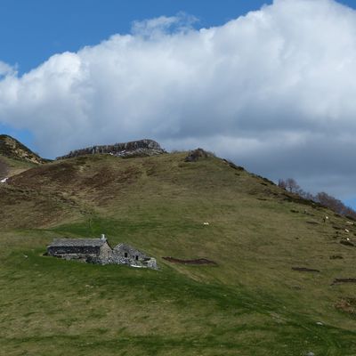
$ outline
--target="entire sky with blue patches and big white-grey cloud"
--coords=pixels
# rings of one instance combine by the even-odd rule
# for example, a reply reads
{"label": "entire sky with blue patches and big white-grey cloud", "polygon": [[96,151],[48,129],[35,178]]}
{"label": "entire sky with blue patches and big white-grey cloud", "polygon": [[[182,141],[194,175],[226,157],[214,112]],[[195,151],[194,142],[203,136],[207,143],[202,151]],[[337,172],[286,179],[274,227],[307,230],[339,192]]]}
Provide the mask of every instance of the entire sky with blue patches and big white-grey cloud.
{"label": "entire sky with blue patches and big white-grey cloud", "polygon": [[0,132],[203,147],[356,206],[356,4],[0,0]]}

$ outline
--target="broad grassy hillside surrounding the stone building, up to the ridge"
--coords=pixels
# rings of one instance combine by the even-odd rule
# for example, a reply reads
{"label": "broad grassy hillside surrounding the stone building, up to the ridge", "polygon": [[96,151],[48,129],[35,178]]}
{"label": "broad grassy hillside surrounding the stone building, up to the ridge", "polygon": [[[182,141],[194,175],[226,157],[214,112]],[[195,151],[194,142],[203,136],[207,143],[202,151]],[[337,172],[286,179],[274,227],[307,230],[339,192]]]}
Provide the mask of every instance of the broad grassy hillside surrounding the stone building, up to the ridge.
{"label": "broad grassy hillside surrounding the stone building, up to the ridge", "polygon": [[[356,354],[355,319],[335,308],[356,287],[331,286],[356,277],[340,244],[355,228],[223,160],[183,158],[75,158],[0,187],[0,354]],[[42,256],[54,236],[101,232],[161,271]]]}

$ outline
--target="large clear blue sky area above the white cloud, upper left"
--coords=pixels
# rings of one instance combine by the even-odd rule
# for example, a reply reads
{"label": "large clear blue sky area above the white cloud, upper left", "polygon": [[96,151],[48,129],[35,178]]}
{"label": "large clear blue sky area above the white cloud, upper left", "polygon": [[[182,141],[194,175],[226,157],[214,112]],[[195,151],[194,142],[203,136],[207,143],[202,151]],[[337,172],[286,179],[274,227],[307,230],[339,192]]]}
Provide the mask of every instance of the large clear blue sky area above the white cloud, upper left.
{"label": "large clear blue sky area above the white cloud, upper left", "polygon": [[36,68],[53,53],[77,51],[116,33],[130,31],[134,20],[187,12],[197,26],[211,27],[267,0],[0,0],[0,59],[20,72]]}

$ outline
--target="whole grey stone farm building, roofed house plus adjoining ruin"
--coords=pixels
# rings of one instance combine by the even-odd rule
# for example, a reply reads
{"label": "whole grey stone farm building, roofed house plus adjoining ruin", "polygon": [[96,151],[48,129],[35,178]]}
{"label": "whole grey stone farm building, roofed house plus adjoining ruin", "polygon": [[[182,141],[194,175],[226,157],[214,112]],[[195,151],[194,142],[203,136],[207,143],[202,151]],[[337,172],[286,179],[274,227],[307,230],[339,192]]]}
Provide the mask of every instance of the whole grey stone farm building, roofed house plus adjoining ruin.
{"label": "whole grey stone farm building, roofed house plus adjoining ruin", "polygon": [[122,243],[111,248],[105,235],[101,235],[101,239],[53,239],[47,247],[47,255],[86,263],[127,264],[158,270],[155,258]]}

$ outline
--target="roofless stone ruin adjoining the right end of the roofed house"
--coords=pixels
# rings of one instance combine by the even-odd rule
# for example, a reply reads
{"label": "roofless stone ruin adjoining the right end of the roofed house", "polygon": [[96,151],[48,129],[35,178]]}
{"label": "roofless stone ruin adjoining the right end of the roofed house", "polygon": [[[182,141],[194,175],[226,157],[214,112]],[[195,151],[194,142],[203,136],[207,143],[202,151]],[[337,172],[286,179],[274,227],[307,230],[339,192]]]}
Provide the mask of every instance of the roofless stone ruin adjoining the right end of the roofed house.
{"label": "roofless stone ruin adjoining the right end of the roofed house", "polygon": [[117,264],[129,264],[134,267],[157,269],[155,258],[149,257],[136,248],[126,244],[118,244],[114,247],[111,258],[113,262]]}

